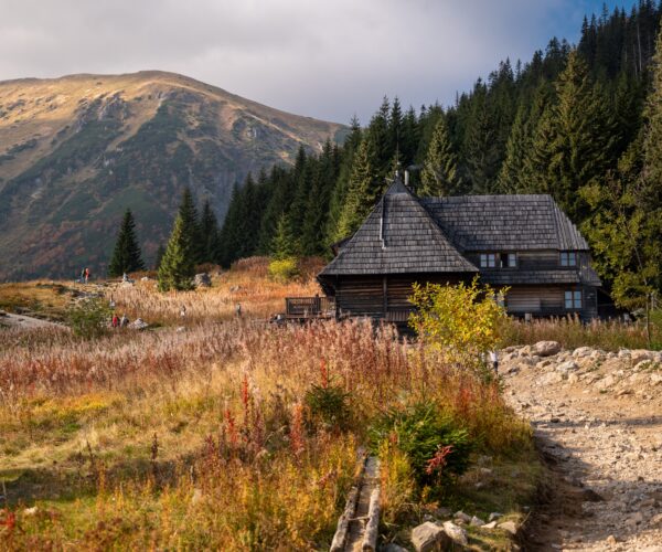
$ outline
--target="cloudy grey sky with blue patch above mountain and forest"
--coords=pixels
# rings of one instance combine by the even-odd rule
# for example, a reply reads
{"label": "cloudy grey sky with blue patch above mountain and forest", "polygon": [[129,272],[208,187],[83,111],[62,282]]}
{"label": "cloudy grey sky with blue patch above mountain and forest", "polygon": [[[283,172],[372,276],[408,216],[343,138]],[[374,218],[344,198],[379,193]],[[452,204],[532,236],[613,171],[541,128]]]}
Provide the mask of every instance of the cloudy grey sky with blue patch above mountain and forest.
{"label": "cloudy grey sky with blue patch above mountain and forest", "polygon": [[[634,0],[607,1],[610,11]],[[181,73],[366,124],[384,95],[444,105],[501,60],[575,43],[594,0],[0,0],[0,81]]]}

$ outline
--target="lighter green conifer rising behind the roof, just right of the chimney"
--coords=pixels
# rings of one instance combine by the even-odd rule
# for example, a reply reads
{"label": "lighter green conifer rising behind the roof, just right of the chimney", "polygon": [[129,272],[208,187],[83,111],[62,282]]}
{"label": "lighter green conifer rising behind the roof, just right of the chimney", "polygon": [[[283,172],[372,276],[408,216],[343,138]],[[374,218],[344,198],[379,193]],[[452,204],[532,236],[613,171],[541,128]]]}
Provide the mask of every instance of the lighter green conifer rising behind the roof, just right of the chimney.
{"label": "lighter green conifer rising behind the roof, just right of the chimney", "polygon": [[445,117],[439,117],[428,148],[423,171],[421,197],[452,195],[458,188],[458,161],[448,138]]}

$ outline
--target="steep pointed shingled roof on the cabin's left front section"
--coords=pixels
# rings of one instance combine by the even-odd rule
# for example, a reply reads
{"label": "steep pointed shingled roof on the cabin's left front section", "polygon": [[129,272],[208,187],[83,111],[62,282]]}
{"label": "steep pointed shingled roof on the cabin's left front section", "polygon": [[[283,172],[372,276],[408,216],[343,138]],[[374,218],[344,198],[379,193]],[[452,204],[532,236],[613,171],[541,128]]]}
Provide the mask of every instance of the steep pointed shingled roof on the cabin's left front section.
{"label": "steep pointed shingled roof on the cabin's left front section", "polygon": [[320,276],[477,272],[396,177]]}

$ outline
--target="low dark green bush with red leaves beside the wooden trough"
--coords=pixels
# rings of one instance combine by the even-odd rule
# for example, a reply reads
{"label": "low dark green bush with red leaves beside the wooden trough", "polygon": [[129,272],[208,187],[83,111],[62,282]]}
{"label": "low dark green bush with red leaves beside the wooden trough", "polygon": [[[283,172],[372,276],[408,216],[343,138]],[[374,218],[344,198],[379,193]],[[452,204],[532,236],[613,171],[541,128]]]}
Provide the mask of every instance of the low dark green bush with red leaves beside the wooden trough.
{"label": "low dark green bush with red leaves beside the wooden trough", "polygon": [[387,411],[373,424],[370,437],[374,450],[384,440],[394,442],[407,456],[420,488],[439,486],[469,467],[469,433],[434,403]]}

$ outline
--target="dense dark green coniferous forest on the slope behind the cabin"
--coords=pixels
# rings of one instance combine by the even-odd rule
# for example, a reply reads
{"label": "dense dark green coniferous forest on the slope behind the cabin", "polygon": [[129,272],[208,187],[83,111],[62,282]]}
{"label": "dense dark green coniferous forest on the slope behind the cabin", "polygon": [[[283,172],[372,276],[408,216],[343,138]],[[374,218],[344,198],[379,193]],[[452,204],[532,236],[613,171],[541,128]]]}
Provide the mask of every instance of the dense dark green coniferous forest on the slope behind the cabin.
{"label": "dense dark green coniferous forest on the slope behind the cabin", "polygon": [[217,261],[282,243],[328,256],[399,166],[420,195],[552,194],[588,238],[606,286],[633,306],[660,289],[660,14],[641,0],[629,13],[585,18],[576,46],[552,39],[526,63],[505,60],[448,107],[385,97],[366,126],[352,120],[343,146],[301,149],[292,167],[236,185]]}

